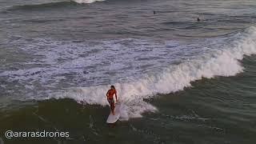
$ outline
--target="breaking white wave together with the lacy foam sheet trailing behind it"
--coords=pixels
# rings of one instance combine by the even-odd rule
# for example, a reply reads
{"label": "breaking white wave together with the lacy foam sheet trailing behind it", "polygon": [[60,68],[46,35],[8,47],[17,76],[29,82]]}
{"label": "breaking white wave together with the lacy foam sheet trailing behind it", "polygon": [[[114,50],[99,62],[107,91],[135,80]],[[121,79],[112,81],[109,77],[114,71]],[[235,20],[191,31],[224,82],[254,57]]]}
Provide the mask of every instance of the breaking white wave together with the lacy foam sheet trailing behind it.
{"label": "breaking white wave together with the lacy foam sheet trailing behind it", "polygon": [[[0,76],[23,86],[18,90],[24,94],[14,90],[19,95],[27,96],[33,89],[36,99],[49,98],[50,94],[50,98],[74,98],[102,106],[108,105],[106,90],[114,84],[123,102],[123,119],[138,118],[145,111],[157,110],[144,98],[183,90],[202,77],[242,72],[238,60],[256,53],[255,29],[250,27],[234,36],[190,44],[133,38],[86,43],[19,38],[9,44],[20,46],[26,56],[33,57],[30,62],[19,62],[21,70],[6,70]],[[64,94],[52,94],[70,86],[76,87]]]}

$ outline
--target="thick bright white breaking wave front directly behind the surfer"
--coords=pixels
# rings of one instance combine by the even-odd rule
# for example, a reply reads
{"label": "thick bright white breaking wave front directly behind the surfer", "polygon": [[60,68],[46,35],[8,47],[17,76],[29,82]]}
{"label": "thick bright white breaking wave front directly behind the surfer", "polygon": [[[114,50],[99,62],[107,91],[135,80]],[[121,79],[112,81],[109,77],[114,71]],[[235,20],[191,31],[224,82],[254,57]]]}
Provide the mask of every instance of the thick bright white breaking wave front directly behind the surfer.
{"label": "thick bright white breaking wave front directly behind the surfer", "polygon": [[[201,58],[170,66],[158,74],[147,74],[132,82],[114,83],[119,101],[124,103],[122,118],[138,118],[145,111],[156,111],[154,106],[143,101],[144,98],[183,90],[190,86],[190,82],[202,77],[234,76],[242,72],[243,67],[238,60],[243,55],[256,54],[256,28],[250,27],[232,38],[233,42],[224,45],[225,48],[216,49]],[[108,88],[109,86],[77,87],[65,94],[58,94],[57,98],[74,98],[77,102],[106,106],[108,103],[105,95]]]}

